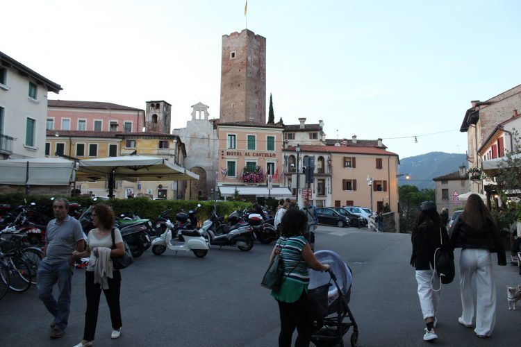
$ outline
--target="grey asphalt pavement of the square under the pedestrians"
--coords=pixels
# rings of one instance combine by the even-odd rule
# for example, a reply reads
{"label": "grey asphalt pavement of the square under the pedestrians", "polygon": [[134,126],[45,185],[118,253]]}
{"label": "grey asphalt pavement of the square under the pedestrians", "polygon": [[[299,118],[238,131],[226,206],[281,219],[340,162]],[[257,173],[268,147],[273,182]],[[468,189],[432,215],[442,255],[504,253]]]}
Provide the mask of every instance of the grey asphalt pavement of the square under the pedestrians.
{"label": "grey asphalt pavement of the square under the pedestrians", "polygon": [[[260,282],[272,245],[256,243],[249,252],[212,247],[206,257],[146,251],[122,270],[123,328],[110,339],[110,316],[101,298],[95,346],[276,346],[279,312]],[[439,339],[422,340],[424,323],[408,264],[410,236],[367,228],[320,226],[316,250],[338,253],[353,271],[349,307],[358,323],[358,346],[520,346],[521,309],[509,311],[506,286],[520,285],[517,267],[495,266],[497,323],[493,336],[479,339],[459,324],[456,279],[444,285],[438,315]],[[456,251],[456,265],[459,251]],[[496,255],[493,262],[497,263]],[[49,339],[51,315],[36,289],[8,293],[0,301],[0,346],[73,346],[83,335],[84,270],[75,270],[72,312],[61,339]],[[344,337],[349,346],[349,330]]]}

